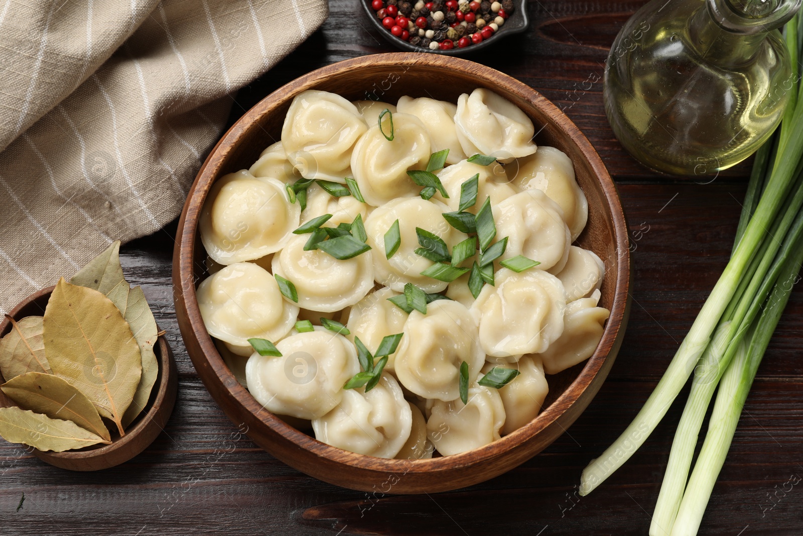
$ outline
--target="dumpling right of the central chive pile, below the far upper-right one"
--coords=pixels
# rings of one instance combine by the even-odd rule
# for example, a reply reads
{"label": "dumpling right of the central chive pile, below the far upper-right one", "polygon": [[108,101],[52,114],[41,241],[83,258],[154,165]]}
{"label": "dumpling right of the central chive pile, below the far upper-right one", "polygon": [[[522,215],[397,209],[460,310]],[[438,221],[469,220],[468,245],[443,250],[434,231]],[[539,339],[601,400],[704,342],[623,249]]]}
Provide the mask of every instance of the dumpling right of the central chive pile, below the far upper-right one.
{"label": "dumpling right of the central chive pile, below the far upper-right one", "polygon": [[561,270],[569,258],[571,235],[558,207],[541,190],[527,190],[491,205],[496,239],[507,236],[502,259],[524,255],[538,269]]}

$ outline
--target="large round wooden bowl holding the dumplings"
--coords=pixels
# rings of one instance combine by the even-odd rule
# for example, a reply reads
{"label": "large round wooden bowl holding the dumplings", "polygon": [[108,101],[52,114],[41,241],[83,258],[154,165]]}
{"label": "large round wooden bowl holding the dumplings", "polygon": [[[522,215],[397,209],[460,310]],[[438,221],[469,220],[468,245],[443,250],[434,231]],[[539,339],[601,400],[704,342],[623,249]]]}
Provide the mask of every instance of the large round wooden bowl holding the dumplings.
{"label": "large round wooden bowl holding the dumplings", "polygon": [[[462,92],[489,88],[517,104],[543,129],[536,142],[552,145],[572,158],[589,200],[589,223],[578,239],[605,261],[601,305],[610,318],[601,342],[588,361],[550,376],[548,407],[524,428],[470,452],[431,460],[385,460],[331,447],[291,428],[265,410],[226,367],[198,309],[195,289],[206,276],[206,252],[198,235],[198,217],[212,183],[223,174],[247,168],[259,153],[279,140],[291,100],[307,89],[336,92],[350,100],[395,102],[399,96],[438,96],[456,102]],[[613,181],[589,141],[569,118],[526,84],[465,59],[442,55],[395,53],[334,63],[301,76],[251,108],[218,141],[198,177],[178,223],[173,254],[176,314],[187,352],[198,375],[226,415],[246,425],[256,444],[288,465],[346,488],[382,493],[431,493],[486,481],[516,467],[552,443],[589,405],[608,374],[625,333],[629,312],[630,254],[622,205]]]}

